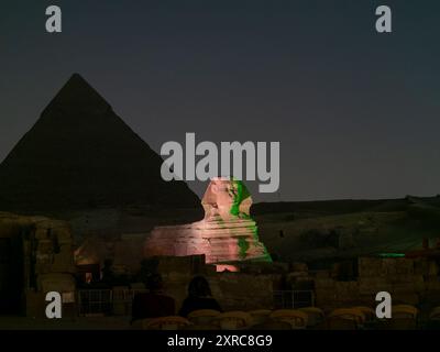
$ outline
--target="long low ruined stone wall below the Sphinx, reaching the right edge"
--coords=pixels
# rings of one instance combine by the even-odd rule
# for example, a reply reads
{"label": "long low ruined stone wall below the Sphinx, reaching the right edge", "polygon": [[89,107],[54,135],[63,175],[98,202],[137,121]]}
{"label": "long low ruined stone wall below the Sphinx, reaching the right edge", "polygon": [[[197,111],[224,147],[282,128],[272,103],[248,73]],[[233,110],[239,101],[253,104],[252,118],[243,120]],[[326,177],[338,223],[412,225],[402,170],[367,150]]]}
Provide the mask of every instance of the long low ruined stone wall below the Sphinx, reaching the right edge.
{"label": "long low ruined stone wall below the Sphinx, reaching the right edge", "polygon": [[228,310],[272,308],[274,289],[315,289],[315,304],[323,309],[374,307],[376,294],[383,290],[392,294],[394,304],[440,304],[439,267],[428,258],[360,257],[359,276],[350,280],[339,280],[334,270],[310,272],[299,263],[273,266],[272,271],[263,264],[249,264],[242,265],[238,273],[216,273],[213,265],[195,266],[194,260],[194,256],[160,257],[158,271],[177,308],[197,274],[208,278],[213,296]]}

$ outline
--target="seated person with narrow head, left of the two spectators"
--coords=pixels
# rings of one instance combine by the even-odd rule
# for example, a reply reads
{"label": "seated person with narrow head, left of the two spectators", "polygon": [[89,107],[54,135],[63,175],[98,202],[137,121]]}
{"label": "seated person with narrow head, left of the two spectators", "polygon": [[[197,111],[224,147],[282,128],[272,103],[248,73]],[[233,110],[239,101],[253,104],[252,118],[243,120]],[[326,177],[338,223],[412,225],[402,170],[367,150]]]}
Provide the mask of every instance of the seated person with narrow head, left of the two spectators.
{"label": "seated person with narrow head, left of the two spectators", "polygon": [[148,293],[136,294],[133,298],[132,322],[175,315],[175,301],[172,297],[162,293],[163,282],[160,274],[148,276],[146,288]]}

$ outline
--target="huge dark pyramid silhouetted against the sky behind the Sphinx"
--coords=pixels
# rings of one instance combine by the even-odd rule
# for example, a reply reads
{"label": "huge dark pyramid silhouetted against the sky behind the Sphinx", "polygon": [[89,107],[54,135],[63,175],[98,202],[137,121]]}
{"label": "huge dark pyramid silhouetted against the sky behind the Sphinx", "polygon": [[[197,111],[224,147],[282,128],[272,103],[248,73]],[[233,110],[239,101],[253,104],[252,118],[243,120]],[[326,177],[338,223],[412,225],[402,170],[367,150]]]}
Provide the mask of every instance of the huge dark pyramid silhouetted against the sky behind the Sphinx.
{"label": "huge dark pyramid silhouetted against the sky behind the Sphinx", "polygon": [[198,207],[184,182],[164,182],[162,157],[74,74],[0,165],[0,210],[147,205]]}

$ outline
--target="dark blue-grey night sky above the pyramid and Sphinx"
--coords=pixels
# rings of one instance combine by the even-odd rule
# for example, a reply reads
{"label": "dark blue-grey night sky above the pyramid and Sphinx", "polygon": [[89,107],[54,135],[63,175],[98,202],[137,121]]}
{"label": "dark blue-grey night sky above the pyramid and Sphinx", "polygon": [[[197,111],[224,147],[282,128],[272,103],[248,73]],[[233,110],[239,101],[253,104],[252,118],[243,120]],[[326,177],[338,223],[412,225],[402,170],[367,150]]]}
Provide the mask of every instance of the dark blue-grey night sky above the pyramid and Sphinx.
{"label": "dark blue-grey night sky above the pyramid and Sphinx", "polygon": [[279,194],[256,200],[436,195],[439,63],[439,1],[2,0],[0,161],[77,72],[157,152],[279,141]]}

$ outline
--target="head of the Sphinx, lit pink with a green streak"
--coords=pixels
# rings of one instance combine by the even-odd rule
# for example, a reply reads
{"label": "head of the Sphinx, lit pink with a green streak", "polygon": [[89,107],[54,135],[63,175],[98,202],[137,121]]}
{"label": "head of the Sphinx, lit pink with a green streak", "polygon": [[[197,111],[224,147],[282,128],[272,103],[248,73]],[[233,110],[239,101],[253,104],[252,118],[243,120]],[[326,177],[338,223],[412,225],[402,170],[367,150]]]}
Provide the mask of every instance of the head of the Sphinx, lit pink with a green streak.
{"label": "head of the Sphinx, lit pink with a green streak", "polygon": [[242,182],[224,177],[213,178],[201,200],[205,219],[229,220],[249,216],[252,199]]}

